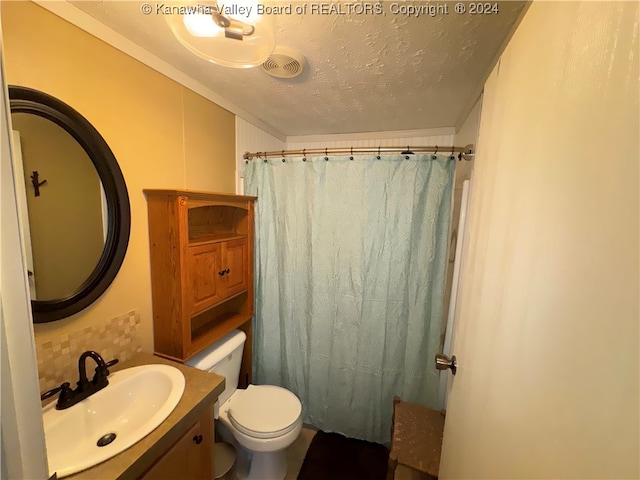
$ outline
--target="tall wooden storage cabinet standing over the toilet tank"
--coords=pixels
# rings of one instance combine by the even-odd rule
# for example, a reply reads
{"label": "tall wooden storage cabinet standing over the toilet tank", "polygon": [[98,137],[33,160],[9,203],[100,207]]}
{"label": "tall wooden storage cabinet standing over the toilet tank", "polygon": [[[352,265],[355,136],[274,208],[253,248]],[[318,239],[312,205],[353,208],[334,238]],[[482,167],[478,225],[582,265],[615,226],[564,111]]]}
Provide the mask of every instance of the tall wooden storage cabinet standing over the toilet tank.
{"label": "tall wooden storage cabinet standing over the toilet tank", "polygon": [[255,197],[145,190],[155,353],[185,362],[230,331],[247,334],[251,381]]}

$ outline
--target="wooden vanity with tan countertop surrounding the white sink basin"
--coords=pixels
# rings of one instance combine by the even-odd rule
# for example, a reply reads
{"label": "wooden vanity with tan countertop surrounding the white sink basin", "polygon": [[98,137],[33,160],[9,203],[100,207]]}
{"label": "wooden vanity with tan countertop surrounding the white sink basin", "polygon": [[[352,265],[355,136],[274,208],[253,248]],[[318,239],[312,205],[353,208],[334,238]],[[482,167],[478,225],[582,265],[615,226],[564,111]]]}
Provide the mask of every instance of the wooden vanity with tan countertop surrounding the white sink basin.
{"label": "wooden vanity with tan countertop surrounding the white sink basin", "polygon": [[224,378],[145,353],[117,365],[113,370],[154,363],[176,367],[185,377],[184,393],[173,412],[160,426],[127,450],[66,478],[212,478],[213,404],[224,390]]}

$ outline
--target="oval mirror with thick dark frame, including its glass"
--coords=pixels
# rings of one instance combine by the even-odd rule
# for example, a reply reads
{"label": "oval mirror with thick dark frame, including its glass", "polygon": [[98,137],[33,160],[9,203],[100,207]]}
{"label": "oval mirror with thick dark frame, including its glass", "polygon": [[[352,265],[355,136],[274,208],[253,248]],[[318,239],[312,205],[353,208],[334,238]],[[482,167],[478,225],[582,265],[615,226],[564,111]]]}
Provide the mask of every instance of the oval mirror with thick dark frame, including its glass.
{"label": "oval mirror with thick dark frame, including its glass", "polygon": [[36,323],[73,315],[115,278],[129,243],[124,177],[98,131],[64,102],[9,86],[13,160]]}

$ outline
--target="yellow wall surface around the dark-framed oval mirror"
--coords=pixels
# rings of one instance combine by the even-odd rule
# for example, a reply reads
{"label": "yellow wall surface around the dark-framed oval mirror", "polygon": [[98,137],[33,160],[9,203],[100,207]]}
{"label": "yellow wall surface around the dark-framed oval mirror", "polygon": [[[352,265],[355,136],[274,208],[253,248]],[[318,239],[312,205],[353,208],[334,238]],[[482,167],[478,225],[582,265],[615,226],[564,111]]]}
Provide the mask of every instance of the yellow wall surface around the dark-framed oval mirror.
{"label": "yellow wall surface around the dark-framed oval mirror", "polygon": [[143,348],[151,351],[142,189],[233,193],[234,115],[31,2],[1,8],[8,83],[51,94],[87,118],[118,160],[131,202],[129,248],[111,287],[84,311],[36,325],[36,336],[54,339],[135,309]]}

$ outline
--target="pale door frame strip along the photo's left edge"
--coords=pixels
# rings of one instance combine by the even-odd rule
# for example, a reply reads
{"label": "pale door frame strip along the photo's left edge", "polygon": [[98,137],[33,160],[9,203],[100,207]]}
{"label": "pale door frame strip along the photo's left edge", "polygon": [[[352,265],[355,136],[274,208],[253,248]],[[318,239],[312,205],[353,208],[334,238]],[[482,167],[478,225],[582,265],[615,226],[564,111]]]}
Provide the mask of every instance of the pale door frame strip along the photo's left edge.
{"label": "pale door frame strip along the photo's left edge", "polygon": [[[1,20],[1,18],[0,18]],[[0,28],[0,478],[49,477]]]}

